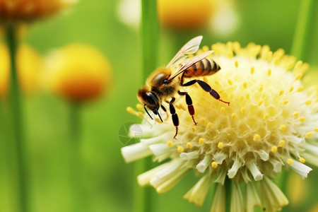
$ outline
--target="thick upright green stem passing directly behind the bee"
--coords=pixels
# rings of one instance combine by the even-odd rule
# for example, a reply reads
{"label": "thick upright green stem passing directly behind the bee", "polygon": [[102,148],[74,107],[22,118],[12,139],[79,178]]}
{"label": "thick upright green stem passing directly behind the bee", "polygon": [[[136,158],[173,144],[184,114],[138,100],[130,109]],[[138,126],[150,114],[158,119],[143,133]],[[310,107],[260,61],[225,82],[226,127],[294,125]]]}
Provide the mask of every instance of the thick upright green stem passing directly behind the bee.
{"label": "thick upright green stem passing directly behind the bee", "polygon": [[[141,0],[141,49],[143,64],[143,81],[149,74],[157,68],[158,62],[158,17],[157,2],[155,0]],[[151,159],[145,158],[136,162],[135,174],[140,175],[151,169]],[[152,188],[135,187],[135,211],[151,212],[152,205]]]}

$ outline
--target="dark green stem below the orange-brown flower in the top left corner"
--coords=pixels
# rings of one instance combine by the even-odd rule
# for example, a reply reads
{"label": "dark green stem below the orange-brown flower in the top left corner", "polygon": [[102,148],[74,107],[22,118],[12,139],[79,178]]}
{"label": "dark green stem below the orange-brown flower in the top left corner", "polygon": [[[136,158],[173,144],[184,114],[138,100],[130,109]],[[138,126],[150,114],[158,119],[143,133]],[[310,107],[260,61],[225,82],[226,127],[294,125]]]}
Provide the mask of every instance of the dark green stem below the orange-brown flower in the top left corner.
{"label": "dark green stem below the orange-brown flower in the top left corner", "polygon": [[18,196],[18,207],[22,212],[28,211],[28,184],[27,184],[27,167],[25,158],[25,143],[23,141],[23,117],[21,111],[21,95],[18,83],[18,72],[16,69],[16,49],[18,39],[16,37],[16,28],[14,25],[6,26],[6,39],[10,54],[10,90],[9,90],[9,105],[11,110],[11,119],[13,127],[13,141],[11,148],[16,157],[16,187]]}

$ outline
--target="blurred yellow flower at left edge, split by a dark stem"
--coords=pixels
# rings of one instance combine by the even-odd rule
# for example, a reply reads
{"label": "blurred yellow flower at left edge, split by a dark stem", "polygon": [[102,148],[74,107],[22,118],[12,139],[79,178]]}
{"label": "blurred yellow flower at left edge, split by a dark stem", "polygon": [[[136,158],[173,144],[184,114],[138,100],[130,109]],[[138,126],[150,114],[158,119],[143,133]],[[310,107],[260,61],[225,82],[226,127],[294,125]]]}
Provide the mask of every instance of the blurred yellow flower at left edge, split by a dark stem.
{"label": "blurred yellow flower at left edge, split by a dark stem", "polygon": [[[4,44],[0,44],[0,58],[0,96],[4,97],[8,92],[10,73],[10,57]],[[32,93],[39,85],[42,57],[28,45],[20,45],[16,59],[20,86],[25,93]]]}

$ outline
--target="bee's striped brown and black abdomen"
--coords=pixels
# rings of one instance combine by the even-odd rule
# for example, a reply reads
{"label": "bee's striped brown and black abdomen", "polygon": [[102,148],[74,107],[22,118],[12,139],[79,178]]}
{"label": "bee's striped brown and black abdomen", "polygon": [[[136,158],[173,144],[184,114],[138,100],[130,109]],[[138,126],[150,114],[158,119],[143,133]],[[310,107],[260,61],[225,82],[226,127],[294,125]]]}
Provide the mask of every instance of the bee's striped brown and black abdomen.
{"label": "bee's striped brown and black abdomen", "polygon": [[220,70],[220,66],[213,59],[205,58],[190,66],[184,71],[184,77],[212,75]]}

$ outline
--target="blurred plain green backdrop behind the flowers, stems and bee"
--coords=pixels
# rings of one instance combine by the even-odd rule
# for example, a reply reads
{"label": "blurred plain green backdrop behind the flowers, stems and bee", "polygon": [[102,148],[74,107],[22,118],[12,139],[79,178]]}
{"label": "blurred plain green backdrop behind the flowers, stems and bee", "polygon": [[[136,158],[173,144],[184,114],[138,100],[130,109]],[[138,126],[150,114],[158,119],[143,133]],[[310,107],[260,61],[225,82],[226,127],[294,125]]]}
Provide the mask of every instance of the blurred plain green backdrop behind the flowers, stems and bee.
{"label": "blurred plain green backdrop behind the flowers, stems and bee", "polygon": [[[181,45],[196,35],[204,35],[201,45],[238,41],[269,45],[290,52],[298,18],[300,1],[232,1],[236,29],[220,35],[213,30],[160,30],[159,64],[167,64]],[[314,11],[318,4],[315,1]],[[25,42],[40,54],[77,42],[97,47],[109,59],[113,85],[102,98],[81,108],[81,185],[83,201],[75,201],[76,189],[69,167],[69,104],[45,92],[23,98],[25,140],[27,142],[31,211],[133,211],[136,173],[134,163],[125,164],[120,153],[124,146],[119,129],[127,123],[141,122],[126,112],[136,105],[136,91],[141,81],[141,37],[139,30],[119,20],[119,1],[82,0],[67,14],[54,16],[30,25]],[[217,8],[216,8],[217,9]],[[189,11],[191,12],[191,11]],[[318,66],[318,16],[311,20],[310,38],[304,61]],[[5,110],[1,107],[1,110]],[[1,114],[5,114],[4,111]],[[5,119],[0,127],[0,211],[15,211],[13,179],[8,175],[11,163],[6,153]],[[140,174],[140,173],[139,173]],[[318,169],[314,168],[300,201],[291,203],[288,211],[310,211],[318,204]],[[182,196],[197,181],[192,173],[167,194],[156,194],[154,211],[209,211],[211,198],[197,208]],[[154,191],[154,189],[153,189]],[[211,193],[211,191],[210,191]],[[290,194],[287,194],[289,196]],[[300,209],[301,208],[301,209]]]}

